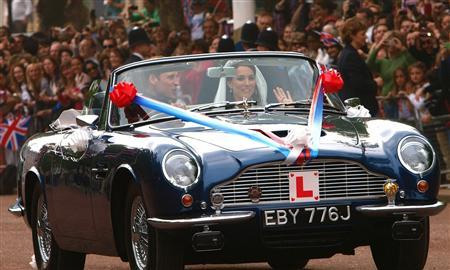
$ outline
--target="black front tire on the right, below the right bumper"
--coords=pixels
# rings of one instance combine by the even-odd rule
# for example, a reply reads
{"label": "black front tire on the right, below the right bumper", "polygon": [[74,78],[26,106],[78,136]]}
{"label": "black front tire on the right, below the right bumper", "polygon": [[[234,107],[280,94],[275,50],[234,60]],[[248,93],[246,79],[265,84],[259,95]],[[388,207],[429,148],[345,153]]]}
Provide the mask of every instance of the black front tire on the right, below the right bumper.
{"label": "black front tire on the right, below the right bumper", "polygon": [[423,234],[419,240],[394,240],[391,224],[377,234],[370,245],[378,270],[422,270],[425,267],[430,241],[430,220],[422,220]]}

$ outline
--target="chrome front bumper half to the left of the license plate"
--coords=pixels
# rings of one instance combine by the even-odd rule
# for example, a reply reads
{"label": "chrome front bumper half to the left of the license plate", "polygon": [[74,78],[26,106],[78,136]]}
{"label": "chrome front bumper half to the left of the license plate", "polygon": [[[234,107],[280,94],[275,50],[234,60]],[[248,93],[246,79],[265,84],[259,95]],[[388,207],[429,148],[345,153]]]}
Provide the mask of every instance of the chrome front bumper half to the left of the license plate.
{"label": "chrome front bumper half to the left of the license plate", "polygon": [[202,216],[198,218],[183,218],[183,219],[161,219],[148,218],[148,223],[157,229],[183,229],[193,226],[201,225],[215,225],[245,222],[255,216],[253,211],[235,211],[222,212],[217,215]]}

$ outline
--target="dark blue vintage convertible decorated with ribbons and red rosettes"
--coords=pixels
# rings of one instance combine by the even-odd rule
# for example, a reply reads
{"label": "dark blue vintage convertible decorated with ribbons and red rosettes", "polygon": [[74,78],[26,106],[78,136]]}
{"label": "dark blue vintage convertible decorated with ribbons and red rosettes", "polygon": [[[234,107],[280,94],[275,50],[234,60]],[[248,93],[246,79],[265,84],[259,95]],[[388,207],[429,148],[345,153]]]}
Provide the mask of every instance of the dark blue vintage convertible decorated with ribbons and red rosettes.
{"label": "dark blue vintage convertible decorated with ribbons and red rosettes", "polygon": [[301,269],[363,245],[378,269],[422,269],[445,207],[435,152],[410,126],[349,115],[364,108],[340,87],[296,53],[120,67],[23,146],[9,210],[39,269],[83,269],[88,253]]}

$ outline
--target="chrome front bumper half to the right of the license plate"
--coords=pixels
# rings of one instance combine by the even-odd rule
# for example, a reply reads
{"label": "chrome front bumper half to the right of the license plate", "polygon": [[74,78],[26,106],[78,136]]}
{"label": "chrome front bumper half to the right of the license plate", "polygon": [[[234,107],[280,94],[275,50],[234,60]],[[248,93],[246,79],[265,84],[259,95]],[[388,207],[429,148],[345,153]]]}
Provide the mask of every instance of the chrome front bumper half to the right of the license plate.
{"label": "chrome front bumper half to the right of the license plate", "polygon": [[362,205],[356,211],[366,216],[390,216],[411,214],[415,216],[434,216],[444,210],[446,203],[437,201],[425,205]]}

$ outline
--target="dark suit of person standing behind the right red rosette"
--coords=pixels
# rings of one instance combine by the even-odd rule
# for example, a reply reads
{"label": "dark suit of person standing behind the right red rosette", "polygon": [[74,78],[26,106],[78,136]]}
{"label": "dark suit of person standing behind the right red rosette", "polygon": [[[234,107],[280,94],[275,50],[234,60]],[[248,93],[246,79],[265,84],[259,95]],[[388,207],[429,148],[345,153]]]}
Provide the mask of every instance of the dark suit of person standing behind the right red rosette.
{"label": "dark suit of person standing behind the right red rosette", "polygon": [[337,61],[338,70],[344,79],[344,88],[339,93],[342,100],[358,97],[361,105],[372,116],[378,113],[377,87],[366,62],[351,45],[345,46]]}

